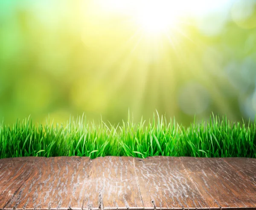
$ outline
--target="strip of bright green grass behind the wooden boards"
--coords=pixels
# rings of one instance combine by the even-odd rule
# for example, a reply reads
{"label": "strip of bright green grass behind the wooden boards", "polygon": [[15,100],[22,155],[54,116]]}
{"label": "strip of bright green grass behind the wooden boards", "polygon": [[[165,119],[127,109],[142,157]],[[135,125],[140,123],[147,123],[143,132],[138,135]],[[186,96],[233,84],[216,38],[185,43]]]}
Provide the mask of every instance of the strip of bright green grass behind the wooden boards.
{"label": "strip of bright green grass behind the wooden boards", "polygon": [[83,117],[67,124],[34,125],[29,119],[0,124],[0,158],[22,156],[134,156],[256,158],[256,124],[232,123],[211,116],[183,127],[175,119],[153,115],[151,121],[113,126],[88,124]]}

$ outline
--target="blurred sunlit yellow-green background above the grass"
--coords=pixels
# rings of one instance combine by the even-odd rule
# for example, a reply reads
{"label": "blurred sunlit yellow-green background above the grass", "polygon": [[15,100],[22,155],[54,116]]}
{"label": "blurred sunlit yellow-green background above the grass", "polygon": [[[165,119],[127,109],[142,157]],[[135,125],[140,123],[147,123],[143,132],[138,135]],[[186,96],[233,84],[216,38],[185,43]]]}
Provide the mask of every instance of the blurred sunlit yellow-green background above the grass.
{"label": "blurred sunlit yellow-green background above the grass", "polygon": [[134,20],[141,0],[1,0],[0,119],[254,119],[256,0],[165,7],[175,23],[150,34]]}

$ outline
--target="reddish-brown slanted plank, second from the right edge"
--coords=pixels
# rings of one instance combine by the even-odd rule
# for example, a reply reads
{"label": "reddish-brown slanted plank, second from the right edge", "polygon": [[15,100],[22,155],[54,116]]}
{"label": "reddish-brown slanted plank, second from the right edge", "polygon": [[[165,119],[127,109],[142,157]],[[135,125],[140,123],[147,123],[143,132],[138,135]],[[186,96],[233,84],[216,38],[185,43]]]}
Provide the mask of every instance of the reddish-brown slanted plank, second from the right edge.
{"label": "reddish-brown slanted plank, second from the right edge", "polygon": [[256,207],[256,190],[221,158],[181,158],[206,200],[221,208]]}

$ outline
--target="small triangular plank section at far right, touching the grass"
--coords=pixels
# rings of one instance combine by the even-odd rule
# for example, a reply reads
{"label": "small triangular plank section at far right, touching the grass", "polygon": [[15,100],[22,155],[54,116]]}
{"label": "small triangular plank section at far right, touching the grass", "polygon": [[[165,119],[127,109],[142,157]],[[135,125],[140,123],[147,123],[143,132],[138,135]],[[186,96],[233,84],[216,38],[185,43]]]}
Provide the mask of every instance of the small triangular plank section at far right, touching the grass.
{"label": "small triangular plank section at far right, touching the grass", "polygon": [[256,159],[253,158],[223,158],[239,175],[256,188]]}

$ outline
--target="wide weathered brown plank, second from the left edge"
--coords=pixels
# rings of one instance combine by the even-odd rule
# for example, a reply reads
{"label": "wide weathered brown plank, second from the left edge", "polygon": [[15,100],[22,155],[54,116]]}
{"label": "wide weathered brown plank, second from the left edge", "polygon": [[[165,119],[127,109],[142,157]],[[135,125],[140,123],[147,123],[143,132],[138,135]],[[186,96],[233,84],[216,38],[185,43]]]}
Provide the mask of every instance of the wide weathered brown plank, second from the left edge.
{"label": "wide weathered brown plank, second from the left edge", "polygon": [[38,158],[5,209],[81,209],[90,165],[88,157]]}

